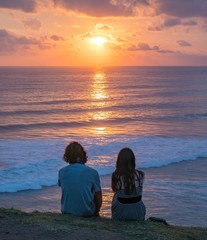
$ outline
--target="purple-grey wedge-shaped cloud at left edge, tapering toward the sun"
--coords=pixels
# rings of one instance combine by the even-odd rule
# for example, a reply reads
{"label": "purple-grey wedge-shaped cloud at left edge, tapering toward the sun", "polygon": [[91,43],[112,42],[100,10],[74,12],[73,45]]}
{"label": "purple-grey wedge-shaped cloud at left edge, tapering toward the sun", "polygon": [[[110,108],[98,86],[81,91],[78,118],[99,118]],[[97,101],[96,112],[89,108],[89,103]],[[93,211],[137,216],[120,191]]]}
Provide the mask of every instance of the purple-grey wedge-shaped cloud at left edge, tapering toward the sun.
{"label": "purple-grey wedge-shaped cloud at left edge, tapering toward the sun", "polygon": [[45,42],[45,39],[36,39],[26,36],[16,36],[14,33],[5,29],[0,29],[0,55],[11,54],[16,51],[30,50],[33,47],[39,49],[48,49],[51,46]]}

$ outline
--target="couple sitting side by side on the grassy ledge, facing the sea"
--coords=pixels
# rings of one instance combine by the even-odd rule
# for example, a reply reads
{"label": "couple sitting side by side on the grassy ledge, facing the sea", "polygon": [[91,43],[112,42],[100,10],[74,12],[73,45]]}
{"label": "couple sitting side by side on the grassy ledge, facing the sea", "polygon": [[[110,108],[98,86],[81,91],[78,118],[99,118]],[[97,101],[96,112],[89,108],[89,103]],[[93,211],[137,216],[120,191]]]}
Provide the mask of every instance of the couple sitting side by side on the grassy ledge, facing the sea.
{"label": "couple sitting side by side on the grassy ledge, facing the sea", "polygon": [[[98,216],[102,193],[98,172],[85,165],[87,155],[78,142],[71,142],[63,159],[69,163],[60,169],[58,184],[62,190],[61,211],[77,216]],[[123,148],[112,174],[112,219],[145,220],[142,202],[144,173],[135,169],[135,156],[131,149]]]}

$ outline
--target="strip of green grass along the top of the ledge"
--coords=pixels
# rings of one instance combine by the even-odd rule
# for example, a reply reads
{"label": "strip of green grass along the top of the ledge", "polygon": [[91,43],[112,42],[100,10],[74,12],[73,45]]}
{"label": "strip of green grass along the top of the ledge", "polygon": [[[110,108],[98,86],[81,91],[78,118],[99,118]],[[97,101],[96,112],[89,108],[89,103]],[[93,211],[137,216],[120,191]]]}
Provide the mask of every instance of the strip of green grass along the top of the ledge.
{"label": "strip of green grass along the top of the ledge", "polygon": [[84,228],[106,233],[121,233],[139,240],[207,240],[207,228],[166,226],[147,221],[113,221],[102,217],[82,218],[52,212],[25,213],[17,209],[0,208],[0,219],[4,218],[11,218],[12,221],[21,222],[28,227],[44,226],[51,231],[70,232],[74,229]]}

